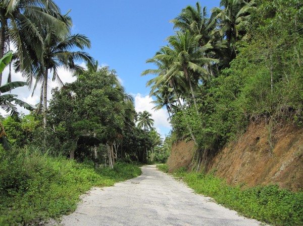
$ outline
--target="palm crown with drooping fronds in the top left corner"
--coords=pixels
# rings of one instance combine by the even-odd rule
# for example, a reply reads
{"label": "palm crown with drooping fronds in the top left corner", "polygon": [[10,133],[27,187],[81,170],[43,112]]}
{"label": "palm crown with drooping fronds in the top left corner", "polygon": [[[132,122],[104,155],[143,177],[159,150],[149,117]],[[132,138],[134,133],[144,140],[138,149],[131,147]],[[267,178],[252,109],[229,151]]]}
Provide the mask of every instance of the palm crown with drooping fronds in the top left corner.
{"label": "palm crown with drooping fronds in the top left corner", "polygon": [[[52,0],[1,0],[0,23],[0,58],[8,51],[11,43],[17,47],[16,54],[22,69],[30,65],[30,53],[41,53],[43,38],[39,32],[40,24],[52,26],[61,37],[69,30],[67,21]],[[30,43],[35,43],[36,48],[28,48]]]}

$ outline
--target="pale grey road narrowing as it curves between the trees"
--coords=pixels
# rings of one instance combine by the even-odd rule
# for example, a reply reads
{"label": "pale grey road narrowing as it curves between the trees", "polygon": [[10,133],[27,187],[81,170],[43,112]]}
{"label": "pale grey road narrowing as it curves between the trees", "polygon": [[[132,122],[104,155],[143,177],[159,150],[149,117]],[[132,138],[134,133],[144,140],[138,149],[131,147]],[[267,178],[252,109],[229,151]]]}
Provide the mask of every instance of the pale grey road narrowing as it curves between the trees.
{"label": "pale grey road narrowing as it curves between the trees", "polygon": [[194,194],[155,166],[144,166],[137,178],[92,189],[74,213],[63,217],[61,225],[258,226],[260,222]]}

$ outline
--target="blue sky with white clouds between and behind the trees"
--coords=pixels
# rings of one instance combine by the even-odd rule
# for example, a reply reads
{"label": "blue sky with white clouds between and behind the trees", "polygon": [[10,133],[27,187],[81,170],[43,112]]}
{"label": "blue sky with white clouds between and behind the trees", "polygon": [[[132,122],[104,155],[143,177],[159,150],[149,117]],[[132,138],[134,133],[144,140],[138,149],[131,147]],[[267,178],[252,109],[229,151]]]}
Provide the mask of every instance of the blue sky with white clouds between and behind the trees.
{"label": "blue sky with white clouds between and behind the trees", "polygon": [[[153,76],[141,77],[143,70],[154,68],[145,61],[151,58],[166,45],[166,38],[174,34],[174,19],[183,8],[195,6],[196,1],[181,0],[55,0],[63,14],[69,10],[73,20],[73,33],[86,35],[91,41],[91,48],[86,51],[98,60],[99,64],[115,69],[122,80],[126,92],[135,97],[137,111],[147,110],[153,114],[154,126],[164,136],[170,130],[167,122],[168,114],[164,109],[154,112],[145,84]],[[219,0],[200,1],[208,11],[219,7]],[[69,71],[59,70],[59,76],[64,82],[73,82]],[[15,81],[23,80],[20,73],[15,74]],[[49,82],[50,88],[57,86]],[[39,88],[33,97],[31,91],[20,89],[16,94],[30,104],[39,101]],[[49,89],[48,100],[51,96]],[[22,110],[24,112],[24,110]],[[25,113],[27,113],[25,111]],[[5,114],[3,114],[5,115]]]}

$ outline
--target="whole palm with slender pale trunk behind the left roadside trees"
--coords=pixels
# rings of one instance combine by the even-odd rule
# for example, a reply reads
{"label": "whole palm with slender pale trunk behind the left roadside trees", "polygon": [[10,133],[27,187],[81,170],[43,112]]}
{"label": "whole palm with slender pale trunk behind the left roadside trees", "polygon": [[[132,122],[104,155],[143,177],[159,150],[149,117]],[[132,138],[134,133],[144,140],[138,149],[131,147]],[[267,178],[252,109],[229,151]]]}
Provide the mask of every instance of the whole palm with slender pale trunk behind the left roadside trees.
{"label": "whole palm with slender pale trunk behind the left roadside trees", "polygon": [[[92,62],[93,58],[86,52],[83,51],[71,51],[74,47],[78,47],[83,50],[85,47],[90,48],[89,39],[82,34],[70,35],[61,39],[54,32],[48,30],[46,27],[43,30],[42,36],[43,41],[43,54],[41,58],[35,61],[35,70],[33,73],[36,83],[34,85],[34,90],[38,83],[41,83],[41,98],[43,102],[43,126],[47,125],[46,112],[47,112],[47,82],[48,82],[48,71],[53,71],[53,81],[58,81],[61,85],[61,81],[58,68],[64,66],[65,68],[75,71],[82,69],[79,65],[75,63],[77,60],[84,60],[86,62]],[[28,80],[32,80],[28,77]],[[41,103],[40,103],[41,105]]]}

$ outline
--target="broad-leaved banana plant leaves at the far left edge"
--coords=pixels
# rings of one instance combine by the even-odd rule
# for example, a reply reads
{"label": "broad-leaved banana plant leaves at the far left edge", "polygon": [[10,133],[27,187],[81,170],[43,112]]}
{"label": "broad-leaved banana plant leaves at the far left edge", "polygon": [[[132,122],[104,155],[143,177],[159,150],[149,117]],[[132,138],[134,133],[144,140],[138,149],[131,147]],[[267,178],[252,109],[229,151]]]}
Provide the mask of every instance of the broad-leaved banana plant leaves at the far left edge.
{"label": "broad-leaved banana plant leaves at the far left edge", "polygon": [[[13,53],[12,51],[9,51],[0,59],[0,73],[3,72],[5,67],[11,62]],[[5,110],[6,112],[11,112],[11,116],[19,119],[19,112],[17,111],[16,105],[19,105],[20,107],[24,107],[27,110],[34,110],[33,107],[24,101],[17,99],[18,95],[15,94],[3,94],[12,91],[15,88],[27,86],[28,84],[26,82],[11,82],[7,83],[3,86],[0,86],[0,108]],[[14,104],[12,103],[14,102]],[[2,125],[2,122],[0,121],[0,143],[2,143],[2,146],[4,149],[8,150],[10,149],[10,145],[8,143],[7,138],[5,137],[6,133],[4,130],[4,127]]]}

